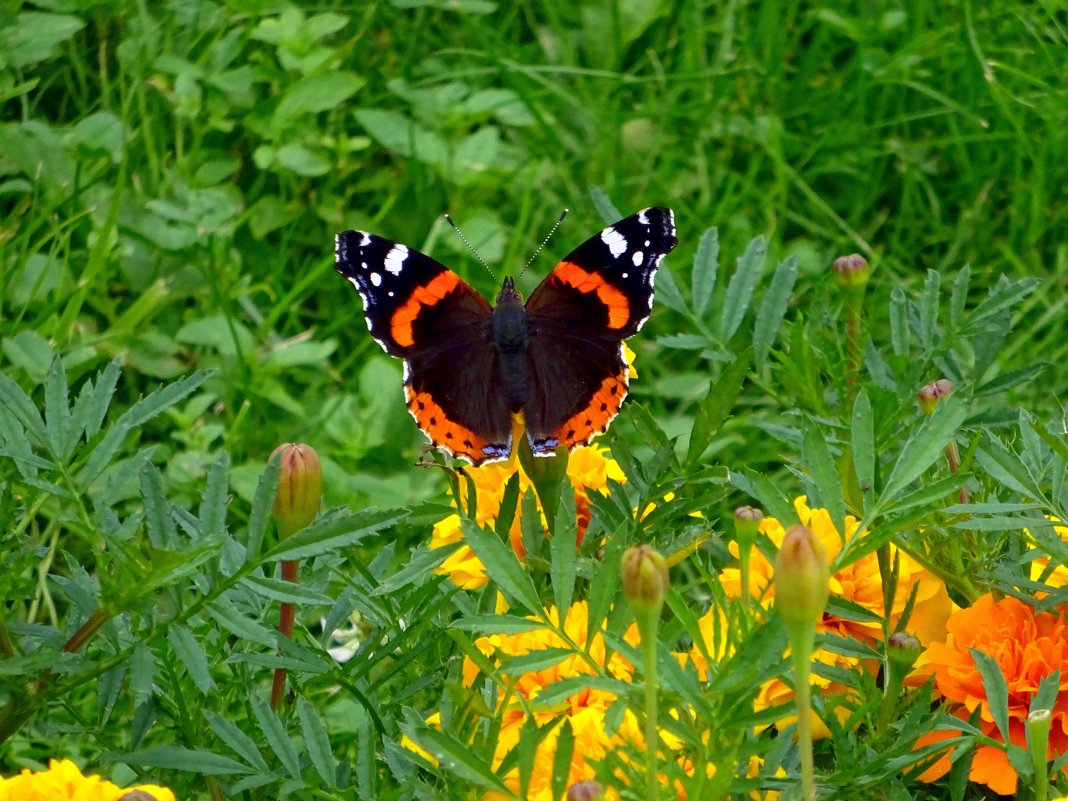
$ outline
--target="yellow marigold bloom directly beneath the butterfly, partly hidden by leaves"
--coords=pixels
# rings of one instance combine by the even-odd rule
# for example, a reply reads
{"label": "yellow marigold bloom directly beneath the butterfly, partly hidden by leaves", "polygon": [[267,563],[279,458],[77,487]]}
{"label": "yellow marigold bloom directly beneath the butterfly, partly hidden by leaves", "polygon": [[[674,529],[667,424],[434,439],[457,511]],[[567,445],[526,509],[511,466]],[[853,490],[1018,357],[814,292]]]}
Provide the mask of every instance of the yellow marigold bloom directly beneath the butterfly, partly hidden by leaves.
{"label": "yellow marigold bloom directly beneath the butterfly, partly hidden by leaves", "polygon": [[[527,473],[523,472],[516,460],[513,465],[484,465],[476,468],[468,468],[467,473],[474,482],[477,492],[477,508],[475,509],[475,520],[480,525],[493,522],[501,512],[501,502],[504,500],[504,487],[508,483],[512,474],[519,472],[520,498],[533,485]],[[567,475],[571,480],[575,488],[575,506],[579,522],[579,541],[586,532],[590,524],[590,493],[608,492],[609,478],[616,482],[626,481],[626,476],[615,459],[608,455],[608,451],[598,445],[579,447],[571,452],[567,461]],[[456,505],[455,499],[453,505]],[[544,523],[543,523],[544,524]],[[522,544],[522,529],[520,523],[520,511],[516,509],[516,518],[512,522],[509,530],[512,547],[520,559],[525,555]],[[459,515],[450,515],[439,521],[434,527],[434,534],[430,537],[430,548],[441,548],[464,539],[464,532],[460,529]],[[486,584],[486,568],[474,555],[474,552],[466,545],[461,545],[449,559],[442,562],[435,570],[438,575],[447,576],[450,580],[465,590],[477,590]]]}

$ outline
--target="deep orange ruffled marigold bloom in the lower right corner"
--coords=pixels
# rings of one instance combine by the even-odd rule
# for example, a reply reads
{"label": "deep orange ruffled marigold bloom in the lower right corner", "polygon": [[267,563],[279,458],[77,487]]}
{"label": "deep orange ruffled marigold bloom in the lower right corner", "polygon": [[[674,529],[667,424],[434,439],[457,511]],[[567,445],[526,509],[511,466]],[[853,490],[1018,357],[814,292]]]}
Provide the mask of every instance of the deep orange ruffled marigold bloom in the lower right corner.
{"label": "deep orange ruffled marigold bloom in the lower right corner", "polygon": [[[984,595],[971,607],[953,613],[944,642],[931,643],[920,657],[920,670],[934,676],[936,690],[954,707],[962,720],[979,708],[979,727],[993,740],[1003,742],[994,724],[986,687],[972,658],[971,649],[983,651],[998,662],[1008,686],[1009,740],[1026,747],[1025,721],[1038,684],[1057,669],[1061,690],[1053,705],[1050,731],[1050,757],[1068,751],[1068,626],[1064,613],[1037,614],[1035,608],[1017,598],[995,601]],[[921,738],[927,744],[952,737],[938,732]],[[920,778],[933,782],[949,770],[949,757],[943,756]],[[972,759],[969,779],[985,784],[994,792],[1016,792],[1017,774],[1005,751],[995,745],[978,745]]]}

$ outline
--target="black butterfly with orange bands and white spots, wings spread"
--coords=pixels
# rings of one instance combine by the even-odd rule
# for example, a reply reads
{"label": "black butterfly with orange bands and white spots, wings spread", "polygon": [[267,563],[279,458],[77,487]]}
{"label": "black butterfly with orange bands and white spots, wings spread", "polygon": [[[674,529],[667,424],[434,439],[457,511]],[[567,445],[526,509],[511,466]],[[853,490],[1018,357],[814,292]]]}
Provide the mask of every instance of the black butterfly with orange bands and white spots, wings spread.
{"label": "black butterfly with orange bands and white spots, wings spread", "polygon": [[429,256],[361,231],[335,238],[335,269],[359,289],[371,335],[404,359],[408,410],[437,447],[472,465],[512,454],[522,412],[535,456],[584,445],[627,395],[623,341],[653,309],[675,218],[646,208],[572,250],[523,304],[497,304]]}

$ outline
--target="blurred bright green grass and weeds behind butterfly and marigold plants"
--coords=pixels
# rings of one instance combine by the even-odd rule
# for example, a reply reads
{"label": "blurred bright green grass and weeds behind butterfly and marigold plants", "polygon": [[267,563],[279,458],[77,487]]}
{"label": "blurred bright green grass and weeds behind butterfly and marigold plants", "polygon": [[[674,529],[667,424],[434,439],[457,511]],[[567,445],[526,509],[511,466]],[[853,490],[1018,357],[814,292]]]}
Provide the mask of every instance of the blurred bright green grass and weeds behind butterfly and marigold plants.
{"label": "blurred bright green grass and weeds behind butterfly and marigold plants", "polygon": [[[40,396],[53,355],[74,386],[123,355],[126,402],[217,366],[155,424],[174,488],[194,496],[225,449],[247,494],[303,440],[329,502],[403,503],[437,478],[408,467],[399,365],[332,270],[333,233],[402,240],[491,294],[442,213],[506,274],[570,207],[529,290],[602,224],[597,187],[624,214],[675,209],[684,293],[710,225],[723,272],[758,234],[767,270],[796,253],[815,317],[833,256],[865,254],[876,339],[891,286],[928,269],[1043,277],[1006,359],[1055,365],[1017,390],[1049,406],[1068,376],[1066,44],[1063,1],[22,4],[0,16],[0,364]],[[635,396],[669,430],[720,371],[663,346],[693,327],[659,305],[632,343]]]}

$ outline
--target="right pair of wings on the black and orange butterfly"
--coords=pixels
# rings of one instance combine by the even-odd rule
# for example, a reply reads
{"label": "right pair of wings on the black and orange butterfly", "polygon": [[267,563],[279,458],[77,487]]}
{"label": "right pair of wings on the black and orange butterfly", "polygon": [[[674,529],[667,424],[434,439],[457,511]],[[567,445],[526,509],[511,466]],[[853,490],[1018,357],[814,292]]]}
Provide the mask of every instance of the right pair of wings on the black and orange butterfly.
{"label": "right pair of wings on the black and orange butterfly", "polygon": [[527,433],[537,456],[603,431],[627,396],[623,340],[653,308],[660,262],[676,245],[670,209],[646,208],[571,251],[527,301]]}

